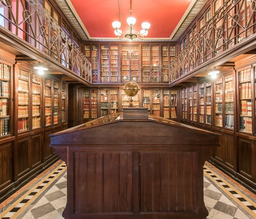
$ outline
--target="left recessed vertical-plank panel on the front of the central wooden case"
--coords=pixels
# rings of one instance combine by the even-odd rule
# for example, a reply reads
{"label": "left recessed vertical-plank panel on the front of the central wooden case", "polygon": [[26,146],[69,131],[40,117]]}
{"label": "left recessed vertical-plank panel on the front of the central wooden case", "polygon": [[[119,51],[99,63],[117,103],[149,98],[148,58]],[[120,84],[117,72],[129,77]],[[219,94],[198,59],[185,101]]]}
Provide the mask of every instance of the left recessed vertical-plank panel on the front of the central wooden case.
{"label": "left recessed vertical-plank panel on the front of the central wooden case", "polygon": [[75,213],[132,212],[131,152],[75,152],[74,157]]}

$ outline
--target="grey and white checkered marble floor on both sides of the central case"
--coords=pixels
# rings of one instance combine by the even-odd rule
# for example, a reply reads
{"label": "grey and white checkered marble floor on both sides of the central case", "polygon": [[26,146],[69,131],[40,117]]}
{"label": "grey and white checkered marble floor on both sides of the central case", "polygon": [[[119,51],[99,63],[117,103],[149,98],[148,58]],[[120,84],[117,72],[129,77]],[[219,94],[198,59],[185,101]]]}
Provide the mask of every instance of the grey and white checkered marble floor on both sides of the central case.
{"label": "grey and white checkered marble floor on both sides of the central case", "polygon": [[[59,219],[67,201],[67,171],[64,169],[65,164],[61,164],[58,171],[52,172],[55,176],[50,175],[48,179],[56,177],[51,185],[44,192],[32,201],[26,208],[20,209],[24,201],[20,201],[3,217],[3,219]],[[48,180],[44,183],[48,183]],[[209,211],[208,219],[253,219],[256,218],[255,200],[245,194],[238,187],[226,181],[223,176],[213,171],[207,165],[204,166],[204,202]],[[40,189],[36,188],[36,189]],[[37,191],[37,190],[36,190]],[[34,193],[30,196],[36,195]],[[39,191],[38,191],[39,192]],[[25,197],[24,200],[28,199]],[[20,211],[19,215],[12,212]],[[11,212],[11,213],[10,213]],[[17,212],[18,213],[18,212]],[[13,217],[15,216],[15,217]],[[0,214],[1,218],[1,214]]]}

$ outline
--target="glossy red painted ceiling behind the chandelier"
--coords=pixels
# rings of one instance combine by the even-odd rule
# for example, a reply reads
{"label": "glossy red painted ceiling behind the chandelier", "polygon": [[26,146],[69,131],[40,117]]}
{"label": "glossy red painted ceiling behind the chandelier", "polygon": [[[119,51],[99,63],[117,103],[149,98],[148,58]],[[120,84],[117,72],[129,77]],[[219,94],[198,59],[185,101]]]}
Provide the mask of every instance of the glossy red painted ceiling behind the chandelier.
{"label": "glossy red painted ceiling behind the chandelier", "polygon": [[[117,0],[71,0],[77,14],[91,37],[116,37],[113,21],[119,20]],[[130,16],[130,0],[119,0],[120,29],[128,29],[126,18]],[[132,17],[136,18],[134,28],[140,31],[142,22],[151,24],[149,37],[169,38],[187,10],[191,0],[133,0]]]}

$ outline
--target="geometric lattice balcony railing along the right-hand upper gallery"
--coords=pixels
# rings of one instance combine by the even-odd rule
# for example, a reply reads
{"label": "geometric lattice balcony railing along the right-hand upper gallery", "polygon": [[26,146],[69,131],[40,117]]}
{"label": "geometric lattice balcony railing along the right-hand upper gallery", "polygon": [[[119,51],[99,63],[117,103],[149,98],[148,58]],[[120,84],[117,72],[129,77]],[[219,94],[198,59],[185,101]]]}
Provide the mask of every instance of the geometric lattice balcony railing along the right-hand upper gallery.
{"label": "geometric lattice balcony railing along the right-hand upper gallery", "polygon": [[[197,67],[224,54],[256,33],[256,1],[226,0],[188,45],[170,62],[169,83],[178,81]],[[193,72],[194,72],[193,71]]]}

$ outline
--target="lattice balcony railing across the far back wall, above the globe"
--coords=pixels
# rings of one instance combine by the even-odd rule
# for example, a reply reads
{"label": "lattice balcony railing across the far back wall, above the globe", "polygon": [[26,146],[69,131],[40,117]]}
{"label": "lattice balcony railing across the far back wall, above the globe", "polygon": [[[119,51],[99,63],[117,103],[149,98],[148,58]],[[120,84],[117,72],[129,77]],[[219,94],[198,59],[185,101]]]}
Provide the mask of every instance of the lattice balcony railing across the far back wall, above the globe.
{"label": "lattice balcony railing across the far back wall, above the globe", "polygon": [[92,64],[92,83],[168,83],[169,65]]}

